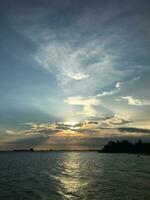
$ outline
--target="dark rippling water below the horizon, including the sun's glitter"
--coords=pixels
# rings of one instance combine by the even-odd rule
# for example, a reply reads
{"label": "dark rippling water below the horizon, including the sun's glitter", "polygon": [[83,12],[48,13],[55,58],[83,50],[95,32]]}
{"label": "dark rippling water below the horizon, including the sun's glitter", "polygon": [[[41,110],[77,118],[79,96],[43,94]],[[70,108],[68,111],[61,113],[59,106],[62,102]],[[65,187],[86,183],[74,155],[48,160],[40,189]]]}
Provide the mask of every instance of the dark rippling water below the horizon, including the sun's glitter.
{"label": "dark rippling water below the horizon, including the sun's glitter", "polygon": [[0,153],[0,200],[150,200],[150,156]]}

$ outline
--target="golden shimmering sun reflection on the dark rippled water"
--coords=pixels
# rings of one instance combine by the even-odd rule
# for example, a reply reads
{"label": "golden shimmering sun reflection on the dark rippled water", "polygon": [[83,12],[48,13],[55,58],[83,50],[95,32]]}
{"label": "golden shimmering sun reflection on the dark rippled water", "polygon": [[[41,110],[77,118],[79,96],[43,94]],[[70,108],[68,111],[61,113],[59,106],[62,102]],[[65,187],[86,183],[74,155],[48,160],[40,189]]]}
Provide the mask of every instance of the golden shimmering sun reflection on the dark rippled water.
{"label": "golden shimmering sun reflection on the dark rippled water", "polygon": [[85,195],[88,180],[82,178],[82,170],[85,169],[79,153],[65,155],[61,163],[61,175],[58,177],[59,193],[65,199],[79,198]]}

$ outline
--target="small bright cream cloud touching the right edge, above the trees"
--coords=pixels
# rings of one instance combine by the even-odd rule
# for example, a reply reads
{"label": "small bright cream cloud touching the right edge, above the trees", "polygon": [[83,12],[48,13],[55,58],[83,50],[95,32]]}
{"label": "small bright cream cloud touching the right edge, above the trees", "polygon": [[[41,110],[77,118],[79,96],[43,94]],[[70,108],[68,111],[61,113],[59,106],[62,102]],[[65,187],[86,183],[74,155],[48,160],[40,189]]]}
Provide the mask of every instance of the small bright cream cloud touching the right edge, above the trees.
{"label": "small bright cream cloud touching the right edge, above the trees", "polygon": [[144,100],[144,99],[136,99],[133,96],[124,96],[120,97],[123,100],[126,100],[128,102],[128,105],[133,105],[133,106],[148,106],[150,105],[149,100]]}

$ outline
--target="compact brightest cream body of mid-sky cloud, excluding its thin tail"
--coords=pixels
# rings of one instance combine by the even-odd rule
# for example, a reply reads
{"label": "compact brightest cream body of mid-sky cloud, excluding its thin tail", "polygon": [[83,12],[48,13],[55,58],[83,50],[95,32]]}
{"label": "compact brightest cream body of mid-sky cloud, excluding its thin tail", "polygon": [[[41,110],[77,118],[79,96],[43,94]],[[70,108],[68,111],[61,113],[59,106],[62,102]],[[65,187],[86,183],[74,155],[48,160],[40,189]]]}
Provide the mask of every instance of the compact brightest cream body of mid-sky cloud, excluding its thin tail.
{"label": "compact brightest cream body of mid-sky cloud, excluding its thin tail", "polygon": [[93,107],[100,105],[100,101],[94,97],[68,97],[64,100],[64,102],[70,105],[83,106],[83,110],[77,112],[77,115],[87,115],[91,117],[95,117],[97,115],[97,112]]}

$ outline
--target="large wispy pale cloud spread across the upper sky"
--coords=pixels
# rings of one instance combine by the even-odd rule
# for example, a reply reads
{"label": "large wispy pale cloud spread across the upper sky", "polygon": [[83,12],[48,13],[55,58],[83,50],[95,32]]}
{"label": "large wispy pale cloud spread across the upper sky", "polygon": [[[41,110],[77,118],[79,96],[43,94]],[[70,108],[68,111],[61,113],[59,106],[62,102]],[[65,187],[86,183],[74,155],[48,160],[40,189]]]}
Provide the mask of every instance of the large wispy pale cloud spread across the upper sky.
{"label": "large wispy pale cloud spread across the upper sky", "polygon": [[[109,42],[102,41],[96,36],[91,40],[76,43],[76,38],[68,35],[68,41],[58,39],[58,33],[47,39],[46,44],[39,42],[39,48],[33,55],[39,66],[56,76],[60,85],[70,82],[81,82],[74,87],[83,88],[84,85],[96,89],[109,85],[117,79],[122,79],[131,74],[130,69],[122,71],[118,66],[118,56],[108,52]],[[106,82],[107,80],[107,82]],[[119,86],[119,83],[118,85]],[[106,94],[104,94],[106,95]]]}

